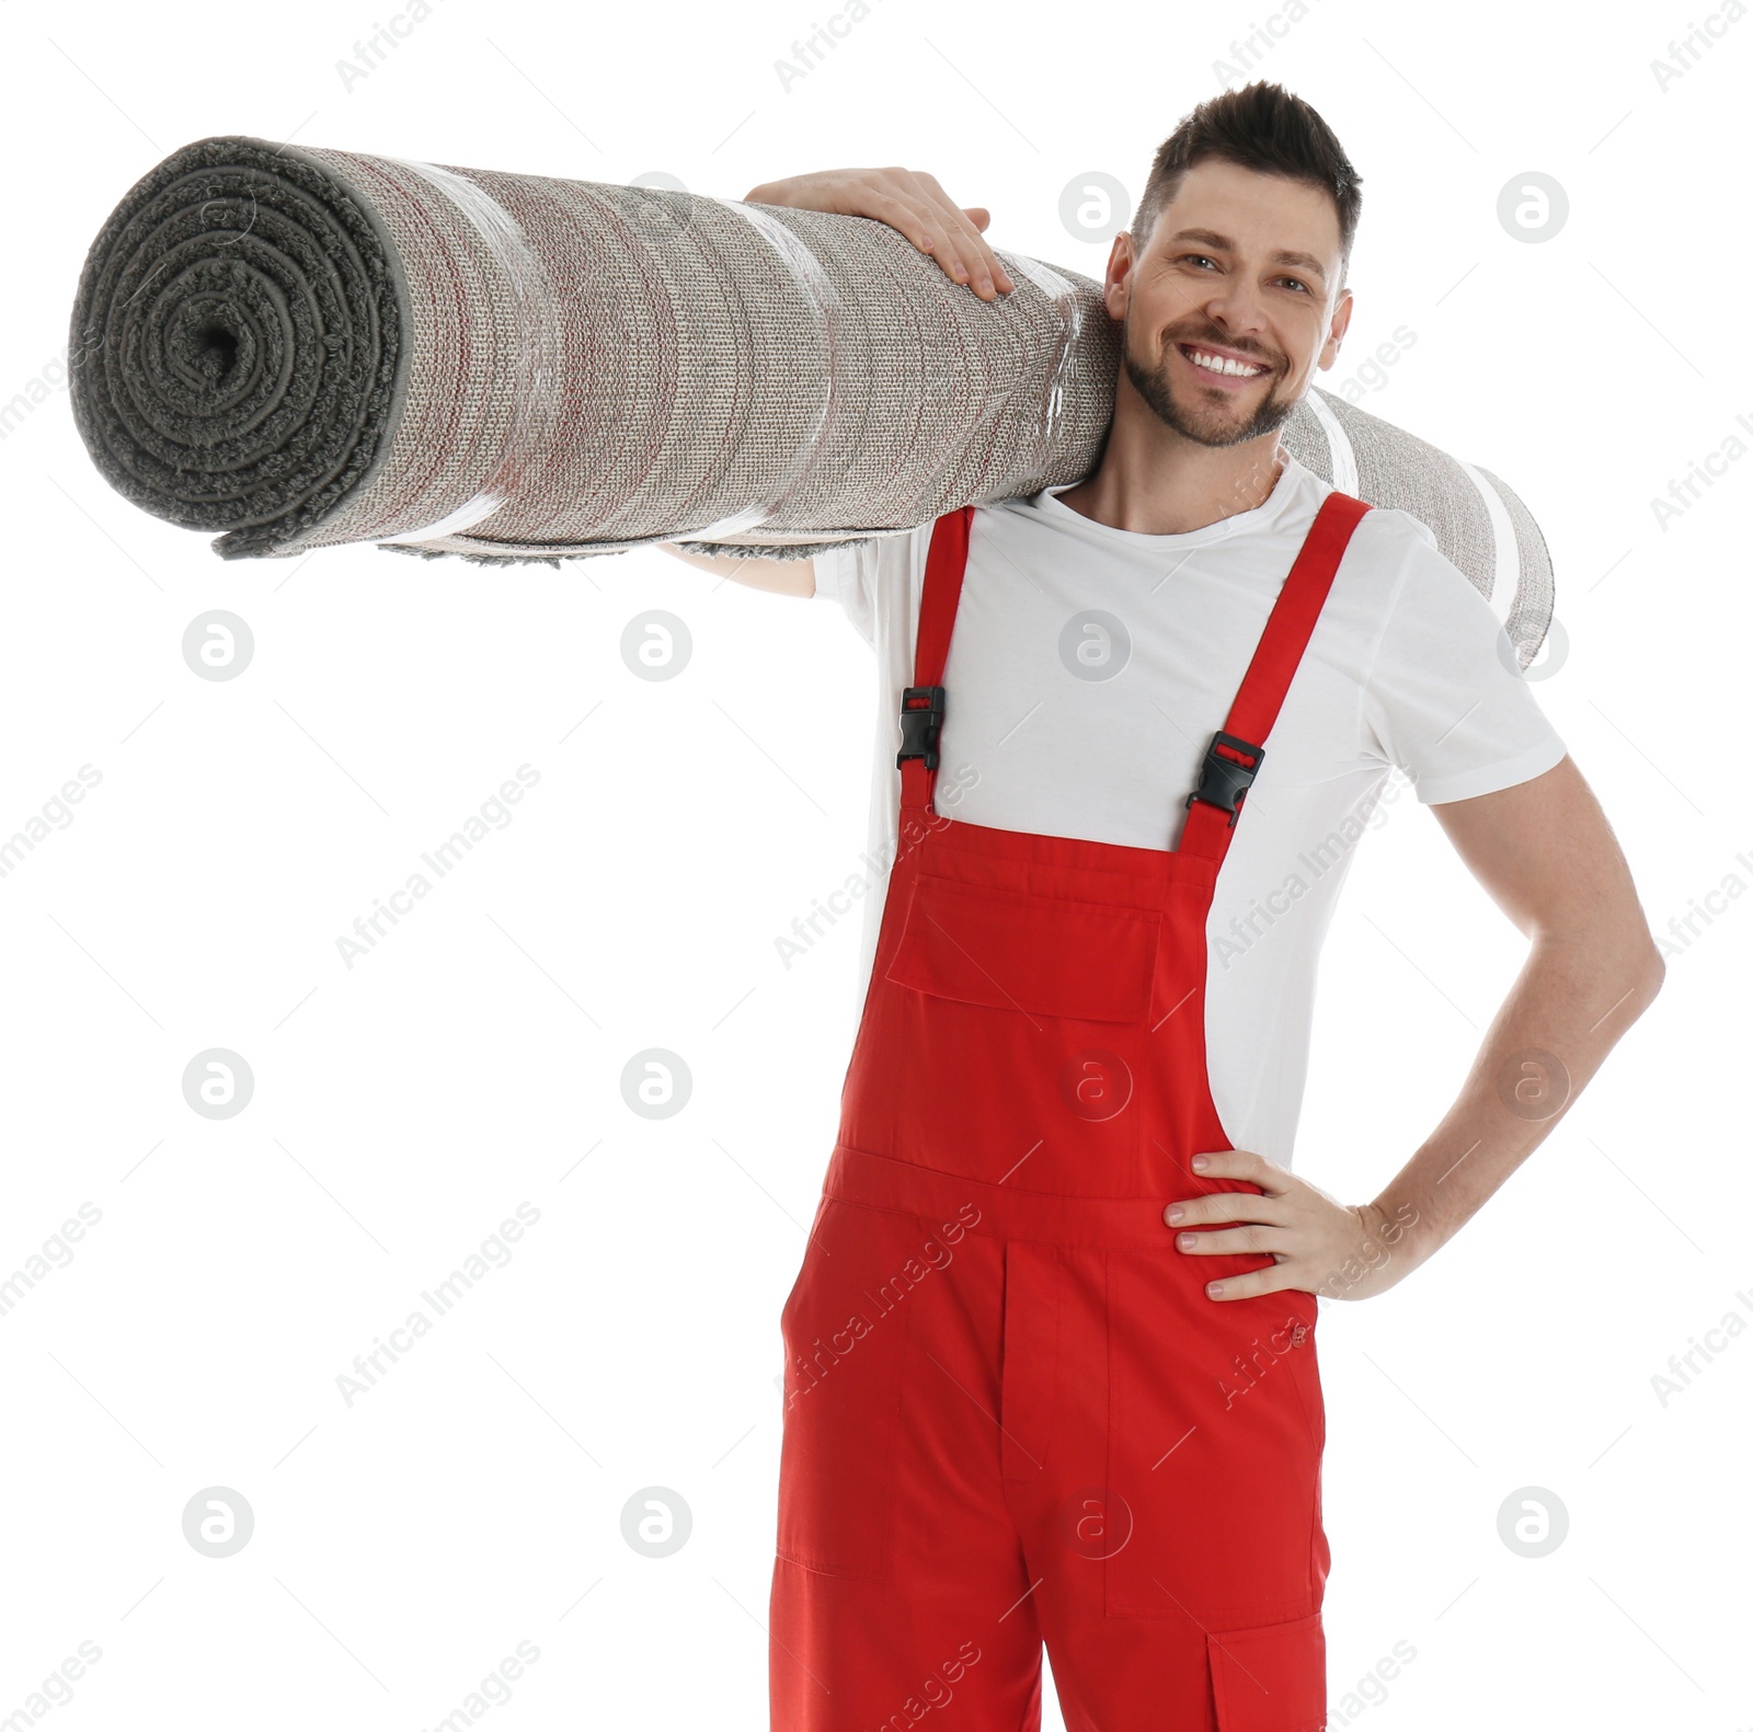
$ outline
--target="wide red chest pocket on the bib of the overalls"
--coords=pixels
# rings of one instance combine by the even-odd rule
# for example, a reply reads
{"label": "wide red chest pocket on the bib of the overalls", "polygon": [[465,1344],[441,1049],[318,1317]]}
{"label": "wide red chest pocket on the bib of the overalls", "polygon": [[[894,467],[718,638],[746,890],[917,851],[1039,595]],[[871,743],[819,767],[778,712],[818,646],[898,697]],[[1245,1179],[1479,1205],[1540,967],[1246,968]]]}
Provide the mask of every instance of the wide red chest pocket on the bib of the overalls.
{"label": "wide red chest pocket on the bib of the overalls", "polygon": [[889,964],[896,985],[1078,1022],[1150,1008],[1162,915],[920,875]]}

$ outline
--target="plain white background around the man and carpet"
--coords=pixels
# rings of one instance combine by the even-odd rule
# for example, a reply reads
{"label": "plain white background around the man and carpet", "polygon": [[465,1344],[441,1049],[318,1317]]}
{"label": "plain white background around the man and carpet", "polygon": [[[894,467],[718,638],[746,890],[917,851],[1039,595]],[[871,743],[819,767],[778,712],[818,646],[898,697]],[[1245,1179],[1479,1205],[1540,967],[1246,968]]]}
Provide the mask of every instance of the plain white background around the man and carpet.
{"label": "plain white background around the man and carpet", "polygon": [[[1721,40],[1664,91],[1651,61],[1704,23],[1678,0],[1309,0],[1295,23],[1273,0],[871,0],[787,89],[775,61],[834,0],[433,0],[345,89],[337,61],[396,4],[0,12],[0,400],[33,405],[0,442],[0,836],[102,775],[0,878],[0,1280],[102,1211],[0,1310],[0,1720],[91,1643],[54,1723],[463,1725],[522,1641],[540,1657],[494,1723],[752,1732],[778,1310],[857,1008],[855,919],[791,969],[775,938],[864,845],[869,650],[827,603],[656,550],[219,561],[109,491],[53,387],[86,245],[172,149],[245,131],[733,198],[901,163],[989,205],[997,244],[1099,277],[1062,189],[1104,172],[1136,196],[1231,42],[1278,19],[1257,70],[1364,175],[1324,384],[1411,326],[1364,407],[1536,514],[1569,640],[1539,696],[1667,933],[1753,882],[1753,461],[1667,529],[1651,510],[1730,435],[1753,447],[1753,21],[1707,14]],[[1543,244],[1497,219],[1530,170],[1569,195]],[[228,682],[181,650],[216,607],[256,643]],[[649,608],[692,633],[680,678],[621,659]],[[337,938],[526,763],[512,822],[345,968]],[[1446,1108],[1522,954],[1429,813],[1390,810],[1329,938],[1297,1150],[1346,1201]],[[1716,1338],[1665,1404],[1651,1385],[1753,1318],[1753,910],[1718,906],[1485,1211],[1390,1294],[1324,1304],[1336,1727],[1753,1723],[1753,1339]],[[184,1103],[212,1047],[254,1073],[231,1118]],[[650,1047],[692,1071],[668,1120],[621,1094]],[[540,1220],[508,1264],[349,1406],[354,1355],[519,1203]],[[210,1487],[254,1516],[228,1558],[182,1534]],[[692,1515],[664,1558],[622,1537],[647,1487]],[[1530,1487],[1569,1522],[1539,1558],[1499,1537]],[[1416,1658],[1348,1700],[1395,1643]]]}

